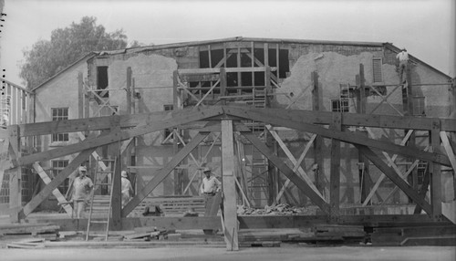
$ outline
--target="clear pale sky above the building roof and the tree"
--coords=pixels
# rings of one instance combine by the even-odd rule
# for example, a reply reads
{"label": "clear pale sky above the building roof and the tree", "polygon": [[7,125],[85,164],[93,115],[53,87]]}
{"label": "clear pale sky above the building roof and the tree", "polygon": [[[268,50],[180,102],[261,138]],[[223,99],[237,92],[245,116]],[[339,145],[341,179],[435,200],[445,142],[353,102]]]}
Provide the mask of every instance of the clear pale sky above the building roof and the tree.
{"label": "clear pale sky above the building roof and the tree", "polygon": [[57,28],[97,17],[129,42],[168,44],[226,37],[389,42],[454,77],[454,0],[5,0],[0,68],[19,78],[23,50]]}

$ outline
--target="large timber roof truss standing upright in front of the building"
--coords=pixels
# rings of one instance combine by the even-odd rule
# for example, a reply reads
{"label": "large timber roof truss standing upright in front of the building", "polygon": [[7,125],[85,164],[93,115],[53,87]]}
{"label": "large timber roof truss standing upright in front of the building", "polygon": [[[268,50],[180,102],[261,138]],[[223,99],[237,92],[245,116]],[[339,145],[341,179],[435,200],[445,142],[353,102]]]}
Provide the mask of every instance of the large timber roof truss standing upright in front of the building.
{"label": "large timber roof truss standing upright in front of the building", "polygon": [[[303,179],[296,172],[295,166],[290,165],[283,159],[277,157],[265,143],[261,141],[247,126],[243,120],[255,120],[280,126],[296,131],[306,131],[318,134],[324,139],[330,139],[333,142],[331,147],[331,175],[330,175],[330,195],[329,198],[323,198],[321,194],[315,190],[315,185]],[[17,200],[20,195],[20,179],[18,175],[13,174],[13,183],[10,181],[10,215],[13,221],[19,221],[32,213],[36,206],[43,202],[47,196],[57,189],[57,186],[62,183],[71,172],[74,172],[78,166],[87,161],[88,157],[99,147],[109,144],[116,144],[119,141],[129,141],[130,139],[146,133],[161,131],[166,128],[178,127],[193,121],[207,121],[205,127],[197,130],[198,133],[192,138],[181,151],[173,157],[171,162],[166,164],[161,170],[155,173],[152,180],[145,184],[142,189],[137,192],[129,204],[123,209],[116,207],[113,209],[112,218],[114,226],[121,228],[123,224],[128,226],[126,216],[140,202],[153,191],[163,179],[169,175],[178,164],[192,152],[198,144],[210,132],[222,131],[222,146],[223,146],[223,192],[225,196],[225,218],[224,229],[228,233],[227,247],[236,249],[237,239],[236,231],[236,190],[233,180],[235,172],[234,166],[234,149],[233,139],[237,137],[234,133],[239,133],[246,140],[251,142],[256,149],[261,151],[265,157],[272,162],[280,172],[294,183],[301,193],[316,204],[322,215],[314,217],[320,222],[326,220],[330,223],[347,223],[347,219],[339,214],[339,182],[340,172],[338,164],[340,162],[339,142],[346,142],[354,145],[358,151],[363,153],[368,161],[372,162],[377,168],[383,172],[399,189],[406,193],[418,207],[422,208],[427,215],[417,214],[412,216],[420,222],[448,222],[448,219],[442,214],[441,198],[440,198],[440,166],[456,168],[454,158],[454,141],[448,138],[448,135],[454,135],[456,132],[456,120],[449,119],[431,119],[431,118],[415,118],[408,116],[389,116],[389,115],[365,115],[356,113],[337,113],[324,111],[309,111],[309,110],[282,110],[282,109],[255,109],[250,107],[233,107],[233,106],[212,106],[204,109],[186,109],[174,110],[171,113],[153,112],[148,114],[133,114],[133,115],[115,115],[109,117],[88,118],[80,120],[62,120],[60,122],[40,122],[28,123],[20,125],[8,126],[6,131],[2,131],[3,137],[7,138],[6,152],[2,155],[1,167],[5,172],[20,173],[23,166],[36,164],[36,162],[44,162],[53,158],[61,157],[62,155],[77,153],[78,156],[70,162],[65,170],[60,172],[55,179],[47,183],[46,187],[28,202],[25,206],[21,206]],[[324,126],[330,126],[329,129]],[[231,128],[230,128],[231,127]],[[395,144],[389,141],[378,141],[360,135],[356,132],[344,131],[347,127],[365,127],[365,128],[390,128],[403,130],[420,130],[430,132],[430,148],[431,150],[420,150],[417,148],[409,148],[408,146]],[[104,131],[103,131],[104,130]],[[107,131],[108,130],[108,131]],[[90,131],[92,134],[84,141],[77,144],[67,145],[66,147],[53,149],[50,151],[42,151],[28,155],[21,154],[21,139],[30,136],[47,135],[60,132],[77,132]],[[97,135],[97,131],[103,131]],[[452,137],[452,136],[451,136]],[[440,141],[443,144],[444,150],[440,150]],[[430,182],[430,201],[420,195],[420,192],[409,185],[398,172],[388,165],[388,162],[381,158],[378,151],[395,153],[407,156],[409,158],[430,162],[431,165],[431,182]],[[115,192],[116,193],[116,192]],[[120,195],[119,192],[118,196]],[[406,215],[407,216],[407,215]],[[410,216],[409,216],[410,217]],[[408,217],[408,218],[409,218]],[[250,218],[250,217],[249,217]],[[264,217],[258,217],[264,220]],[[278,217],[277,217],[278,218]],[[310,217],[304,217],[305,220]],[[385,217],[379,217],[379,219]],[[248,219],[248,218],[247,218]],[[286,218],[285,218],[286,219]],[[397,222],[403,222],[402,219],[397,219]],[[365,217],[358,221],[360,224],[368,222],[378,222],[373,216]],[[389,220],[389,223],[393,219]],[[186,223],[186,222],[184,222]],[[213,224],[213,221],[209,224]],[[196,222],[195,226],[211,226],[202,225]],[[280,224],[280,223],[279,223]],[[188,224],[185,224],[188,225]],[[185,226],[184,225],[184,226]],[[255,224],[258,226],[259,224]],[[241,225],[243,227],[243,225]],[[274,225],[276,227],[276,225]]]}

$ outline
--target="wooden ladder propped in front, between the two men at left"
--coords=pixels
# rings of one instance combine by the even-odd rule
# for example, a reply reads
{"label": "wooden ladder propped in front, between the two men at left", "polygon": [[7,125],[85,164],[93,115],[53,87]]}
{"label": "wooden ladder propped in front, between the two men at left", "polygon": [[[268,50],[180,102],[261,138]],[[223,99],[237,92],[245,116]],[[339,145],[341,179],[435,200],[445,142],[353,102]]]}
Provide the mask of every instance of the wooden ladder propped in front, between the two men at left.
{"label": "wooden ladder propped in front, between the two men at left", "polygon": [[[108,168],[105,171],[98,171],[98,162],[104,162],[107,166],[110,165],[110,168]],[[88,213],[88,224],[87,224],[87,234],[86,234],[86,241],[88,241],[88,236],[90,235],[90,224],[106,224],[106,232],[105,232],[105,241],[108,241],[108,234],[109,234],[109,221],[110,221],[110,216],[111,216],[111,209],[112,209],[112,195],[113,195],[113,183],[114,183],[114,175],[116,173],[116,165],[117,165],[117,158],[114,160],[111,159],[97,159],[97,171],[95,172],[95,175],[93,177],[94,183],[93,183],[93,193],[92,193],[92,198],[90,201],[90,211]],[[109,182],[109,175],[111,174],[111,179]],[[100,176],[99,183],[97,183],[98,180],[98,175]],[[108,182],[104,182],[104,180],[107,179]],[[97,186],[108,186],[108,191],[109,191],[109,198],[107,199],[106,196],[99,195],[95,196],[95,193],[97,191]],[[106,207],[106,204],[109,203],[109,207]],[[94,204],[97,204],[94,208]],[[107,214],[106,220],[92,220],[92,214],[94,212],[98,212],[99,214]]]}

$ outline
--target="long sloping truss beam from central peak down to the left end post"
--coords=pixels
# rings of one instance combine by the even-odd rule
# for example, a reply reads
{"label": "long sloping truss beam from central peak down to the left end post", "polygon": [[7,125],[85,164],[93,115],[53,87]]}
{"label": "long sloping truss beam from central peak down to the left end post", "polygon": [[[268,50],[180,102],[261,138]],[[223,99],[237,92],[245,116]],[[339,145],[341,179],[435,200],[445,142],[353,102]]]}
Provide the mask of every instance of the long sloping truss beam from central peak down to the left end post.
{"label": "long sloping truss beam from central peak down to the left end post", "polygon": [[204,110],[180,110],[180,114],[175,114],[171,119],[163,119],[150,121],[146,120],[144,125],[137,126],[136,128],[126,131],[114,131],[105,136],[86,139],[77,144],[67,145],[64,148],[57,148],[50,151],[37,152],[35,154],[24,156],[17,160],[19,165],[26,165],[33,162],[48,161],[57,157],[73,154],[78,151],[87,150],[90,148],[96,148],[98,146],[106,145],[116,141],[129,140],[132,137],[140,136],[146,133],[161,131],[164,129],[172,128],[180,124],[189,123],[196,120],[203,120],[212,116],[221,115],[222,110],[216,110],[214,108]]}

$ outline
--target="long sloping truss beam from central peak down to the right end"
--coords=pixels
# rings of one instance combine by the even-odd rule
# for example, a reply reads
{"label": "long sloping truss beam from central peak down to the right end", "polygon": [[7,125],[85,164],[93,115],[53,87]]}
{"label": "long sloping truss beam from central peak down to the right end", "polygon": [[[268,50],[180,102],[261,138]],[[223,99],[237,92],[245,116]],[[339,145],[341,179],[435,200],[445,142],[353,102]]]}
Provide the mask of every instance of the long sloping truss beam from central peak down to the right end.
{"label": "long sloping truss beam from central peak down to the right end", "polygon": [[[365,145],[368,147],[373,147],[381,151],[389,151],[393,153],[398,153],[401,155],[406,155],[409,157],[419,158],[423,161],[438,162],[442,165],[449,166],[450,161],[446,155],[436,153],[436,152],[426,152],[420,151],[417,149],[412,149],[409,147],[399,146],[389,141],[377,141],[363,137],[356,133],[348,133],[344,131],[335,131],[328,130],[323,127],[316,126],[314,124],[309,124],[304,122],[304,119],[293,120],[290,119],[289,114],[264,114],[254,109],[241,109],[241,108],[223,108],[226,114],[241,117],[249,120],[263,121],[272,125],[279,125],[288,128],[292,128],[298,131],[306,131],[317,133],[318,135],[324,136],[326,138],[337,139],[340,141],[345,141],[348,143]],[[344,114],[348,116],[349,113]]]}

